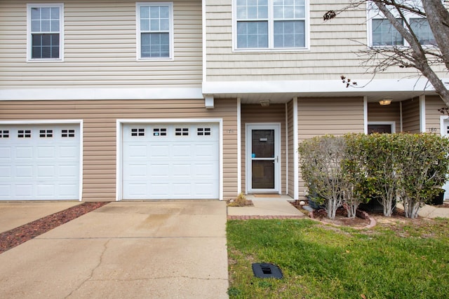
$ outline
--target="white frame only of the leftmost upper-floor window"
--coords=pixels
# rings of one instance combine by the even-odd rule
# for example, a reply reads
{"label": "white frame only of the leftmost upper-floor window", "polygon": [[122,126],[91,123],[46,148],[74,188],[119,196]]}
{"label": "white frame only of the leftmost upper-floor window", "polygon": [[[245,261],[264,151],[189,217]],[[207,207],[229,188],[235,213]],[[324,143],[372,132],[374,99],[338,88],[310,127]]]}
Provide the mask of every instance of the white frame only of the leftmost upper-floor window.
{"label": "white frame only of the leftmost upper-floor window", "polygon": [[[32,58],[32,8],[59,8],[59,57],[58,58]],[[27,62],[63,62],[64,61],[64,4],[27,4]]]}

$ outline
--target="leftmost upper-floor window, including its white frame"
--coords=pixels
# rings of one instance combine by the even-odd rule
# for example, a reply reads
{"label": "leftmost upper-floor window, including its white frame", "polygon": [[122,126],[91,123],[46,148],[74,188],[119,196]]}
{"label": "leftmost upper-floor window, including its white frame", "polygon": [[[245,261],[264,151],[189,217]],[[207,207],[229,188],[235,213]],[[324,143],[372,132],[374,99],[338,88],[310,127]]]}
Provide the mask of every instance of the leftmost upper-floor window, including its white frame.
{"label": "leftmost upper-floor window, including its white frame", "polygon": [[27,60],[62,60],[64,4],[27,4]]}

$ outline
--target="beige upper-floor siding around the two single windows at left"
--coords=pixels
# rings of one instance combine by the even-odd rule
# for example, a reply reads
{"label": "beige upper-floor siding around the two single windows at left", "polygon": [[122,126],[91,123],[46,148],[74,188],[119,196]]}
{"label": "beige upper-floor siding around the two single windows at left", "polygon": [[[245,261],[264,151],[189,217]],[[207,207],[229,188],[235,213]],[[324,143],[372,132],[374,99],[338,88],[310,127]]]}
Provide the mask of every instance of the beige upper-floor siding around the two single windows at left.
{"label": "beige upper-floor siding around the two single windows at left", "polygon": [[166,62],[136,61],[135,1],[37,3],[62,2],[64,62],[27,63],[29,1],[0,1],[0,88],[201,85],[201,1],[173,2],[175,59]]}

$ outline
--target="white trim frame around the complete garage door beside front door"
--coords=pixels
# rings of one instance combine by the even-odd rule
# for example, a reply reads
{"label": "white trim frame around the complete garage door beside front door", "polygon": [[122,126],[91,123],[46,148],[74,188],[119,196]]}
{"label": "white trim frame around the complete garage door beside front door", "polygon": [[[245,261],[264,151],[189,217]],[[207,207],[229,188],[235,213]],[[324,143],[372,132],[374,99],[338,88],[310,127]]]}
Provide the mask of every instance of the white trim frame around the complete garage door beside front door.
{"label": "white trim frame around the complete garage door beside front door", "polygon": [[218,169],[218,196],[223,200],[223,119],[222,118],[143,118],[143,119],[117,119],[116,120],[116,201],[123,200],[123,125],[132,123],[216,123],[219,127],[219,169]]}

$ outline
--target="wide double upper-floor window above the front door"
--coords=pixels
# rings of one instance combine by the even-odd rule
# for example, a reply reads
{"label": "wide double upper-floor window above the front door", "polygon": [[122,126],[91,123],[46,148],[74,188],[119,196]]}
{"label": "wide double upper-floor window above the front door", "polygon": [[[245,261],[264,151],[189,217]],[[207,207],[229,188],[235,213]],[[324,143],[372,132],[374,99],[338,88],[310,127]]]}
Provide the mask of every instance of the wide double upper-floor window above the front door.
{"label": "wide double upper-floor window above the front door", "polygon": [[307,0],[235,0],[236,49],[308,46]]}

